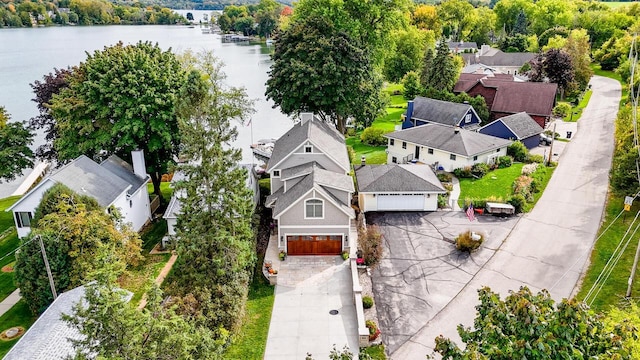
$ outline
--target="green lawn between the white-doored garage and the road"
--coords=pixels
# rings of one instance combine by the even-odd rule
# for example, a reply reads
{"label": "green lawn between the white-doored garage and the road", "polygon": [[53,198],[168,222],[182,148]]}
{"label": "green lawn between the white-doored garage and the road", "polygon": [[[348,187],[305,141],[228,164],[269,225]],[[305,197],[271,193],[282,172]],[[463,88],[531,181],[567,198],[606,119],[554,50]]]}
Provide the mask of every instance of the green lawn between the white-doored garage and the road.
{"label": "green lawn between the white-doored garage and the road", "polygon": [[464,199],[486,199],[500,197],[506,200],[511,196],[511,185],[522,173],[522,163],[514,163],[508,168],[496,169],[481,179],[460,179],[460,199],[458,204],[464,205]]}

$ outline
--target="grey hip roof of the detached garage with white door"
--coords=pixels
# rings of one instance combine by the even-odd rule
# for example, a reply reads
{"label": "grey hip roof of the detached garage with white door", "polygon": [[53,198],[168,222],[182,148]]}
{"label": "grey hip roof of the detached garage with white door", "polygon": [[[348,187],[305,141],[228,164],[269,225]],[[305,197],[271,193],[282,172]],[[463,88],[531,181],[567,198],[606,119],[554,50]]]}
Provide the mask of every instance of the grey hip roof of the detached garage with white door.
{"label": "grey hip roof of the detached garage with white door", "polygon": [[427,165],[365,165],[356,169],[356,179],[359,192],[446,192]]}

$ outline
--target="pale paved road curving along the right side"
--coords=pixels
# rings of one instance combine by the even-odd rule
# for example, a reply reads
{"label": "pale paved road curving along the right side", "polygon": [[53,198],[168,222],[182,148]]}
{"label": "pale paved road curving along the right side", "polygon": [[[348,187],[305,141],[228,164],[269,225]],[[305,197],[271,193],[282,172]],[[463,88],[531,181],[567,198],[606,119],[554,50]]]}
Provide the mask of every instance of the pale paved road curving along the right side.
{"label": "pale paved road curving along the right side", "polygon": [[439,334],[459,339],[457,324],[473,325],[476,290],[490,286],[503,296],[522,285],[569,297],[586,266],[601,223],[613,153],[620,84],[595,76],[593,95],[544,195],[469,283],[420,331],[391,354],[424,359]]}

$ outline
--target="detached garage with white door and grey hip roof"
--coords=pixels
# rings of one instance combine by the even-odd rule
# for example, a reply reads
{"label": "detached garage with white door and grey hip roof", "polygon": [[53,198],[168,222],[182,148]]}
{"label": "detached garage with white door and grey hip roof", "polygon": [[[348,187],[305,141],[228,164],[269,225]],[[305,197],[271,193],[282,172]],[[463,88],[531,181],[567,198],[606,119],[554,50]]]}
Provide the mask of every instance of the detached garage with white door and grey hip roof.
{"label": "detached garage with white door and grey hip roof", "polygon": [[447,192],[427,165],[362,165],[355,173],[363,212],[435,211],[438,195]]}

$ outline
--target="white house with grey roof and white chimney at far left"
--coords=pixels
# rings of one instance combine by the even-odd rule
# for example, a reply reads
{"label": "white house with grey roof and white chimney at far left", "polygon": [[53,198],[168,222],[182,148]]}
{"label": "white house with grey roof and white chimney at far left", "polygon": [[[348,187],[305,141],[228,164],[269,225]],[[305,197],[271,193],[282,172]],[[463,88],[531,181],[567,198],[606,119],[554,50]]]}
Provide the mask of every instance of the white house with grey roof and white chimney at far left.
{"label": "white house with grey roof and white chimney at far left", "polygon": [[31,219],[45,191],[55,184],[63,184],[81,195],[88,195],[107,211],[114,207],[120,211],[123,221],[139,231],[151,220],[149,193],[144,153],[131,152],[133,168],[115,155],[98,164],[82,155],[47,176],[36,187],[25,194],[7,211],[13,218],[19,237],[31,232]]}

